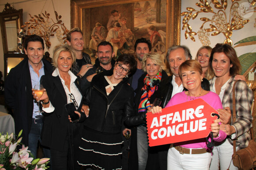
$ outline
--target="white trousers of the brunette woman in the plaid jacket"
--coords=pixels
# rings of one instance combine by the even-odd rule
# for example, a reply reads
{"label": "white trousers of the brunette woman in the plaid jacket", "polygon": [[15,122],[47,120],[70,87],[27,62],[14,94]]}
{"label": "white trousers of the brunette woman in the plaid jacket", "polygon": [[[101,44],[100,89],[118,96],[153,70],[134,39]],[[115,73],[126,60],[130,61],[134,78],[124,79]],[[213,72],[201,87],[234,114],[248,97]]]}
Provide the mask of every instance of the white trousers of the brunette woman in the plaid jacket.
{"label": "white trousers of the brunette woman in the plaid jacket", "polygon": [[221,170],[226,170],[229,166],[230,170],[238,170],[238,168],[233,165],[233,161],[231,162],[232,155],[233,145],[231,145],[227,139],[222,142],[215,142],[212,151],[210,170],[218,170],[219,166]]}

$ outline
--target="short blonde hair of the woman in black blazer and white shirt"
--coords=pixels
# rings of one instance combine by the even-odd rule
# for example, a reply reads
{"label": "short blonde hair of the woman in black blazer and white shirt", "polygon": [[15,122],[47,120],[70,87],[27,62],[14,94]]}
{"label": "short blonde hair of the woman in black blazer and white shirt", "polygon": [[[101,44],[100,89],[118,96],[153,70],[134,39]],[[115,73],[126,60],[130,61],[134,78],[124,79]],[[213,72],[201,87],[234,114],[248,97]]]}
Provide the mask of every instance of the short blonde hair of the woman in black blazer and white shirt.
{"label": "short blonde hair of the woman in black blazer and white shirt", "polygon": [[69,46],[68,44],[58,45],[55,47],[55,49],[53,51],[53,67],[54,68],[57,68],[57,66],[58,66],[58,58],[62,51],[70,52],[70,54],[72,56],[72,60],[73,60],[72,64],[74,64],[74,62],[76,60],[75,50],[71,46]]}

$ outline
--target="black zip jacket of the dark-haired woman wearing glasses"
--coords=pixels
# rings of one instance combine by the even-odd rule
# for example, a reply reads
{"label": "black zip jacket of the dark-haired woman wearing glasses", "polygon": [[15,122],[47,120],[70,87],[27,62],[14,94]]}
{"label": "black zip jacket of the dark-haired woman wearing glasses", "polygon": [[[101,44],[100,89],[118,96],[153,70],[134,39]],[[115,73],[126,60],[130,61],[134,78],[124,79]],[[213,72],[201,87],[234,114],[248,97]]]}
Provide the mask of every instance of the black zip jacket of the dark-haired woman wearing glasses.
{"label": "black zip jacket of the dark-haired woman wearing glasses", "polygon": [[84,104],[90,108],[84,126],[105,133],[120,133],[123,120],[133,112],[134,93],[124,78],[107,95],[108,85],[104,76],[111,76],[113,71],[105,71],[93,77]]}

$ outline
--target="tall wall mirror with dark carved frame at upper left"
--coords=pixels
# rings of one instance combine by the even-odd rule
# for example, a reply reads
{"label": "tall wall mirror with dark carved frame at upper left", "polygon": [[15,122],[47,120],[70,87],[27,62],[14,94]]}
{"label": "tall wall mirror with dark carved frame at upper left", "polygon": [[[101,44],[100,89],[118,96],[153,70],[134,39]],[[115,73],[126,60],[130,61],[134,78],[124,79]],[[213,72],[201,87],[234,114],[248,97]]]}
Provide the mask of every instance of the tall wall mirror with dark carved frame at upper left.
{"label": "tall wall mirror with dark carved frame at upper left", "polygon": [[23,25],[23,9],[16,10],[10,4],[5,4],[3,12],[0,12],[0,25],[4,53],[17,51],[17,29]]}

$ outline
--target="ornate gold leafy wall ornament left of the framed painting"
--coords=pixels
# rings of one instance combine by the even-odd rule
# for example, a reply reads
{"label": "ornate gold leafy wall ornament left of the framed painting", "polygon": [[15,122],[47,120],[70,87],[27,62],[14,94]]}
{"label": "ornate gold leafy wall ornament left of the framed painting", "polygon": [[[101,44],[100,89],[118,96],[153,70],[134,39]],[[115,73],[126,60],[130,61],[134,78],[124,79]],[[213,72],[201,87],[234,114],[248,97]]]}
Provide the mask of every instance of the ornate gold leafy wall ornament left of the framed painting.
{"label": "ornate gold leafy wall ornament left of the framed painting", "polygon": [[[56,11],[54,11],[56,22],[50,18],[50,14],[45,11],[44,13],[31,16],[30,22],[25,22],[25,25],[22,25],[22,28],[27,28],[27,34],[36,34],[41,36],[45,40],[45,45],[47,49],[51,47],[50,37],[56,34],[57,39],[61,43],[66,43],[68,29],[65,27],[64,23],[62,23],[61,15],[58,15]],[[52,20],[53,24],[51,23]]]}

